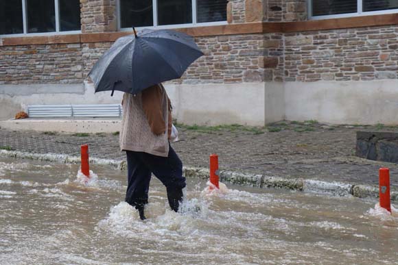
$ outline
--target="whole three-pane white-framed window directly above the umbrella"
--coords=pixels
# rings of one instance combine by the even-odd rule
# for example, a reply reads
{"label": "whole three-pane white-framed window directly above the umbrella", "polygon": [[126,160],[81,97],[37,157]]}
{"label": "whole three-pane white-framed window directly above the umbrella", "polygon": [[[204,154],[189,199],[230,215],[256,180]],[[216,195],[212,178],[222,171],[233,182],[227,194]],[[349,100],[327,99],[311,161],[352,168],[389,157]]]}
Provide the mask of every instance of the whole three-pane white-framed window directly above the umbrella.
{"label": "whole three-pane white-framed window directly above the umbrella", "polygon": [[178,27],[225,24],[228,0],[119,0],[119,26]]}

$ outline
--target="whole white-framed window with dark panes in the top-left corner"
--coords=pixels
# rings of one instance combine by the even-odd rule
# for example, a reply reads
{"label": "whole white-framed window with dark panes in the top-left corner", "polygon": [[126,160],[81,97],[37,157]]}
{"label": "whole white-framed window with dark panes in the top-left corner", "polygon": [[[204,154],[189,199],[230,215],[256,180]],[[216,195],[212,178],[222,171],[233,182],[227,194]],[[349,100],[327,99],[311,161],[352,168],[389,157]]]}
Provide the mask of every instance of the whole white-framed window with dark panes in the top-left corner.
{"label": "whole white-framed window with dark panes in the top-left corner", "polygon": [[0,0],[0,35],[80,30],[80,0]]}

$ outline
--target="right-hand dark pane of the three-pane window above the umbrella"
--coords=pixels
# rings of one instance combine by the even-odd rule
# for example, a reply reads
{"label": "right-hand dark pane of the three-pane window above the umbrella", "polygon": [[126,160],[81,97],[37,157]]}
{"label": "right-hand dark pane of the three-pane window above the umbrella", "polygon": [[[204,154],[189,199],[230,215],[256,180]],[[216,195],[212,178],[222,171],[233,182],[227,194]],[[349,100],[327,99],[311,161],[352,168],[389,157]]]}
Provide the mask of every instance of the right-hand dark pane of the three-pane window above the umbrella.
{"label": "right-hand dark pane of the three-pane window above the umbrella", "polygon": [[198,0],[198,22],[226,21],[227,0]]}

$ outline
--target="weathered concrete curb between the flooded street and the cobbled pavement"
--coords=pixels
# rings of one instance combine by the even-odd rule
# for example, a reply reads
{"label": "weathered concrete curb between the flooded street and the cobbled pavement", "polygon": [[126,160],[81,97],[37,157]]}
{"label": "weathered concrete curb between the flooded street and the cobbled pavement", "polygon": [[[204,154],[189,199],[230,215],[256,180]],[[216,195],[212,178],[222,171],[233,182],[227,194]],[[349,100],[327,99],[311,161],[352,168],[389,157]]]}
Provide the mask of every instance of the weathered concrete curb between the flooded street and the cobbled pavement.
{"label": "weathered concrete curb between the flooded street and the cobbled pavement", "polygon": [[[31,159],[47,162],[65,164],[80,164],[80,157],[74,155],[63,155],[55,153],[27,153],[21,151],[0,150],[0,157],[12,157],[19,159]],[[124,160],[106,160],[92,157],[91,164],[111,166],[119,170],[126,170]],[[184,166],[185,177],[196,177],[209,179],[208,168],[197,168]],[[238,173],[234,171],[220,171],[220,181],[243,186],[257,188],[285,188],[288,190],[300,190],[304,192],[323,192],[334,196],[353,196],[358,198],[378,198],[379,188],[377,186],[347,184],[337,181],[320,181],[316,179],[285,179],[283,177],[272,177],[250,173]],[[398,201],[398,191],[391,192],[391,201]]]}

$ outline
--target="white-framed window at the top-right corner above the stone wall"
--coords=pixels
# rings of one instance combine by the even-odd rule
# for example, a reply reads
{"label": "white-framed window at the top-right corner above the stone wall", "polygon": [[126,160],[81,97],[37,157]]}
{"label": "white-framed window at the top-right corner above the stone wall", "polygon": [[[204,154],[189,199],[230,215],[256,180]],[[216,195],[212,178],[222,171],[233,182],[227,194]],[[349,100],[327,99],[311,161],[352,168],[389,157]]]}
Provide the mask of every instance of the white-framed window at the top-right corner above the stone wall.
{"label": "white-framed window at the top-right corner above the stone wall", "polygon": [[310,0],[312,17],[325,18],[398,12],[398,0]]}

